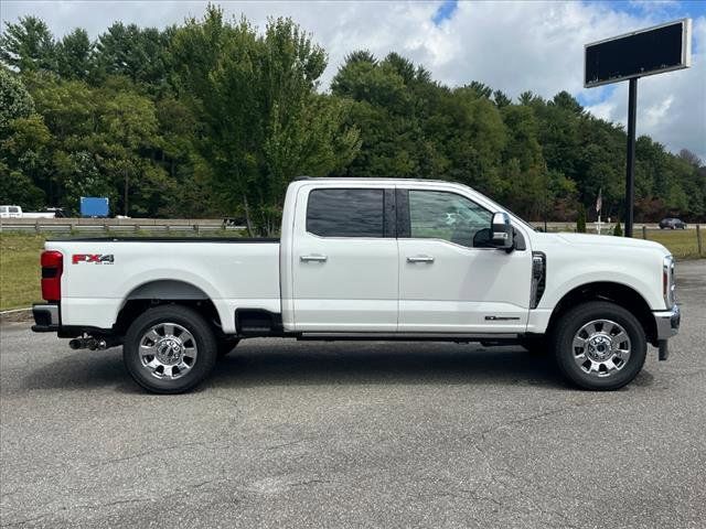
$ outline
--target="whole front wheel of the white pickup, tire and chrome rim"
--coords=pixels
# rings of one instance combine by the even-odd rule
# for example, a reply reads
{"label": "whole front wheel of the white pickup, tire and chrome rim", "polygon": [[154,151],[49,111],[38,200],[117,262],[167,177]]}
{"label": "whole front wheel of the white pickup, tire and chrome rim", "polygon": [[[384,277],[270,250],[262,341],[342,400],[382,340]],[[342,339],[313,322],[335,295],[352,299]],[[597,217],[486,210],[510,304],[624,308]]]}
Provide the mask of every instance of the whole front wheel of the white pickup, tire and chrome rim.
{"label": "whole front wheel of the white pickup, tire and chrome rim", "polygon": [[646,356],[640,322],[614,303],[591,301],[557,322],[553,348],[561,374],[592,390],[618,389],[632,381]]}

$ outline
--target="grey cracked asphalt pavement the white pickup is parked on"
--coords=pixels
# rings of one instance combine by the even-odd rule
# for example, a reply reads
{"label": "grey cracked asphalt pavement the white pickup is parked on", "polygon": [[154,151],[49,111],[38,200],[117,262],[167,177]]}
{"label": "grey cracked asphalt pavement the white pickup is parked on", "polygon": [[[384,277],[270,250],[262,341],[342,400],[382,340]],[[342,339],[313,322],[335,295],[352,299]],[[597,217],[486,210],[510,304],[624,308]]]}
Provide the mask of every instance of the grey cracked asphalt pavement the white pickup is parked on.
{"label": "grey cracked asphalt pavement the white pickup is parked on", "polygon": [[687,528],[706,520],[706,261],[672,357],[568,388],[517,347],[242,344],[158,397],[2,327],[3,527]]}

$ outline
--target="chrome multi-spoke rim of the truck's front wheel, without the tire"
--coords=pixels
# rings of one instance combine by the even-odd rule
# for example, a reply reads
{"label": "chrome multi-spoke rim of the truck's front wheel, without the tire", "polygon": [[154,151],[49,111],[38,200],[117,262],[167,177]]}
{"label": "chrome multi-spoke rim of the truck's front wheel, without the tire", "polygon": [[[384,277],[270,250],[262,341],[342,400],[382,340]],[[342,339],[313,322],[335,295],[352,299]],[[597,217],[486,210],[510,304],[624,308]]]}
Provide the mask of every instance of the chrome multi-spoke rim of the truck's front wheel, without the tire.
{"label": "chrome multi-spoke rim of the truck's front wheel, without the tire", "polygon": [[588,375],[610,377],[628,365],[630,336],[610,320],[593,320],[574,335],[574,361]]}

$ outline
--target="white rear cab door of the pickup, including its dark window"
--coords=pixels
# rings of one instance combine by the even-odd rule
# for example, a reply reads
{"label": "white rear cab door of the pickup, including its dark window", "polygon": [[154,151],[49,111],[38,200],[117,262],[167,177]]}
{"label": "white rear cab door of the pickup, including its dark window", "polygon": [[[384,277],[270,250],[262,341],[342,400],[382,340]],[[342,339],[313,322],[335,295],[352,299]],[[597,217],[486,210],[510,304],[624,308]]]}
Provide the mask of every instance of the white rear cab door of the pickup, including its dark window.
{"label": "white rear cab door of the pickup, including its dark window", "polygon": [[291,252],[295,328],[395,332],[394,190],[303,186]]}

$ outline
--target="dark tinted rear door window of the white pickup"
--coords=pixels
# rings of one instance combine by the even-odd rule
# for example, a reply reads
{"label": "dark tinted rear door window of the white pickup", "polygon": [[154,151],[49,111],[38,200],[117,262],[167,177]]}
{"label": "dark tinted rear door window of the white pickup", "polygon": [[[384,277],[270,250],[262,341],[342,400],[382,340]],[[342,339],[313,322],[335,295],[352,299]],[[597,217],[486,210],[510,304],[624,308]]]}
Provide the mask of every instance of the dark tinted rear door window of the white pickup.
{"label": "dark tinted rear door window of the white pickup", "polygon": [[321,237],[384,237],[384,190],[313,190],[307,231]]}

